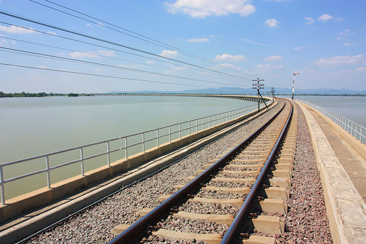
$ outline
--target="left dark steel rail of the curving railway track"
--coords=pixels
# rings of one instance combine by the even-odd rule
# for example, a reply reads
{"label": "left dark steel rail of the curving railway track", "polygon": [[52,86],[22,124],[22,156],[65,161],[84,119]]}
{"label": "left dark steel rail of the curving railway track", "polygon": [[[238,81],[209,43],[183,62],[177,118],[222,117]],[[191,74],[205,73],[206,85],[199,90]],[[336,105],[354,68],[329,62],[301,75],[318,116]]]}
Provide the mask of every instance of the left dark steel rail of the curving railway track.
{"label": "left dark steel rail of the curving railway track", "polygon": [[156,206],[145,216],[133,223],[125,231],[114,237],[111,241],[108,242],[108,244],[135,243],[140,238],[142,238],[143,235],[146,233],[146,229],[148,229],[149,226],[154,225],[155,223],[160,221],[161,218],[168,215],[171,208],[181,204],[189,197],[188,195],[193,194],[196,190],[198,190],[201,187],[201,184],[210,180],[212,178],[212,175],[216,174],[219,171],[219,168],[223,167],[227,161],[232,159],[246,144],[249,144],[265,127],[267,127],[282,112],[284,107],[285,103],[281,107],[281,109],[274,116],[272,116],[272,118],[267,120],[259,129],[253,132],[239,145],[234,147],[230,152],[228,152],[226,155],[216,161],[213,165],[207,168],[204,172],[198,175],[187,185],[180,188],[168,199]]}

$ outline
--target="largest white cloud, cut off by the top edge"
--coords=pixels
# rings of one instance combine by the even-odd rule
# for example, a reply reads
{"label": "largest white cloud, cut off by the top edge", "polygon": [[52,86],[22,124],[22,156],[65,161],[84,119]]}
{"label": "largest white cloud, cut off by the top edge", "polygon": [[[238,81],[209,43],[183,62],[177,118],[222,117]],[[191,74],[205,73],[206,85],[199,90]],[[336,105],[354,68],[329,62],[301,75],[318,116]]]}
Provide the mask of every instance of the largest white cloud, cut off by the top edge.
{"label": "largest white cloud, cut off by the top edge", "polygon": [[171,4],[164,2],[164,6],[171,14],[183,13],[192,18],[229,14],[245,17],[255,12],[254,5],[247,4],[248,2],[249,0],[176,0]]}

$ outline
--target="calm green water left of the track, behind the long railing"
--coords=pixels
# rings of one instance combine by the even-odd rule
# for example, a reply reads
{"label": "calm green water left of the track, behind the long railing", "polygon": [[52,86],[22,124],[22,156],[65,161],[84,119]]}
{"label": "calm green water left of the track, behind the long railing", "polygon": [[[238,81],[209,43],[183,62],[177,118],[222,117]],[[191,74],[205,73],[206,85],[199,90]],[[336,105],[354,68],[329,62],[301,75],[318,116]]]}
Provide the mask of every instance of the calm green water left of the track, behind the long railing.
{"label": "calm green water left of the track, behind the long railing", "polygon": [[[197,97],[2,98],[0,163],[134,134],[254,104],[256,103],[236,99]],[[132,138],[132,142],[133,140]],[[152,147],[156,142],[152,141],[150,144]],[[124,142],[119,140],[110,146],[111,149],[120,148],[124,146]],[[106,144],[85,150],[84,157],[103,151],[106,151]],[[123,150],[112,154],[111,162],[122,157]],[[50,165],[55,166],[79,158],[80,150],[75,150],[62,157],[51,156]],[[106,155],[86,160],[85,172],[106,165],[106,162]],[[9,179],[41,170],[45,165],[43,158],[17,166],[5,166],[4,177]],[[80,172],[80,163],[52,170],[52,183],[78,175]],[[6,183],[6,198],[46,185],[46,173]]]}

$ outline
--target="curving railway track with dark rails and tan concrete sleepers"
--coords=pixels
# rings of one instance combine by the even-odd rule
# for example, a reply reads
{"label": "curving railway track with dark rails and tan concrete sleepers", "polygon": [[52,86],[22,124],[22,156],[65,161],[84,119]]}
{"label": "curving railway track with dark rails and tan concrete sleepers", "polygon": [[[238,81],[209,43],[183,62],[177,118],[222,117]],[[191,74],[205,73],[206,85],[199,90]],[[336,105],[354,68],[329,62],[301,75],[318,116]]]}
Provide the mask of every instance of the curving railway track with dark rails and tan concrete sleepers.
{"label": "curving railway track with dark rails and tan concrete sleepers", "polygon": [[[109,243],[276,243],[284,231],[297,115],[282,108],[234,148],[173,186],[157,207],[143,208]],[[267,236],[266,236],[267,235]],[[158,242],[159,241],[159,242]]]}

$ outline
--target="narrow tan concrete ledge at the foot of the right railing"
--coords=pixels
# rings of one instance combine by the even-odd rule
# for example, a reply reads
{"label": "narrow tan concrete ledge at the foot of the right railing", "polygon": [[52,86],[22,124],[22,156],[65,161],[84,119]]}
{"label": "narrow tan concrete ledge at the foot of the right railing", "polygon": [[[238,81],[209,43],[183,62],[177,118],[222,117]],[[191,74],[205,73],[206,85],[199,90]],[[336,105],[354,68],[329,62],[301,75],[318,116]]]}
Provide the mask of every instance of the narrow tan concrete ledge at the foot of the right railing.
{"label": "narrow tan concrete ledge at the foot of the right railing", "polygon": [[356,140],[356,138],[354,138],[348,132],[343,130],[339,125],[334,123],[332,120],[330,120],[328,117],[326,117],[316,109],[313,109],[306,104],[304,105],[306,106],[306,108],[311,109],[320,117],[322,117],[333,128],[333,130],[335,130],[364,160],[366,160],[366,145]]}

